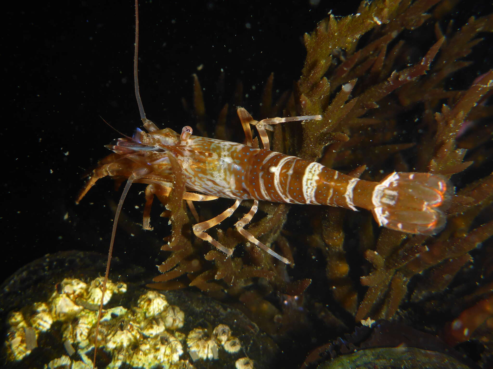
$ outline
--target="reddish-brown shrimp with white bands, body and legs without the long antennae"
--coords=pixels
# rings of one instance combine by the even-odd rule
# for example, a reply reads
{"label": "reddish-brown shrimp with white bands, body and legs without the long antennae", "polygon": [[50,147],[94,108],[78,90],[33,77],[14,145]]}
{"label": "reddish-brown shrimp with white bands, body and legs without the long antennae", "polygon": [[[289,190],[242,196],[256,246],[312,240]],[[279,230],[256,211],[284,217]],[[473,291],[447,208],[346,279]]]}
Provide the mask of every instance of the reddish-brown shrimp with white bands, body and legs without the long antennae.
{"label": "reddish-brown shrimp with white bands, body and legs without the long antennae", "polygon": [[[250,211],[236,224],[251,243],[282,260],[289,261],[255,239],[244,227],[258,208],[258,201],[292,204],[330,205],[347,209],[367,209],[379,225],[416,234],[434,234],[445,225],[443,210],[454,191],[443,176],[431,173],[391,173],[380,183],[360,180],[296,156],[269,150],[265,133],[268,125],[289,121],[318,120],[321,116],[271,118],[257,122],[244,108],[238,116],[246,135],[246,145],[192,135],[183,127],[181,134],[170,128],[158,129],[142,119],[147,132],[138,130],[132,139],[120,138],[108,145],[114,154],[100,161],[77,202],[95,182],[105,176],[133,175],[135,182],[148,184],[143,227],[150,229],[149,209],[154,194],[168,196],[173,185],[170,156],[180,164],[186,178],[184,200],[207,201],[218,197],[235,203],[210,220],[195,224],[194,234],[231,255],[206,231],[233,214],[242,200],[251,199]],[[250,125],[255,125],[263,149],[254,148]],[[190,192],[195,191],[195,192]],[[198,192],[198,193],[197,193]]]}

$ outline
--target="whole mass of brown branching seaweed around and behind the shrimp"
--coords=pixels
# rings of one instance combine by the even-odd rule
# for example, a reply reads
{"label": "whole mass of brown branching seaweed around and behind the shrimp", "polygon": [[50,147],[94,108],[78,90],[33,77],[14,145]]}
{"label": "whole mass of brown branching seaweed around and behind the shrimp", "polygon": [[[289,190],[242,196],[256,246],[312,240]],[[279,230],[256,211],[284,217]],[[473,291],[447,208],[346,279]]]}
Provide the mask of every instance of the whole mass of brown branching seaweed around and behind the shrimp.
{"label": "whole mass of brown branching seaweed around and behind the shrimp", "polygon": [[[481,42],[481,35],[493,31],[493,16],[470,18],[457,29],[446,17],[447,4],[439,0],[362,2],[354,15],[331,15],[305,34],[307,58],[293,91],[273,101],[271,75],[258,114],[259,119],[281,116],[283,107],[285,115],[322,115],[319,121],[276,126],[274,150],[316,160],[355,178],[378,182],[394,171],[431,172],[448,178],[457,174],[452,178],[457,194],[441,234],[413,236],[379,229],[368,214],[352,213],[348,219],[346,210],[331,207],[308,210],[305,206],[303,215],[297,208],[288,217],[289,205],[264,202],[260,205],[263,216],[254,218],[248,231],[295,263],[297,277],[290,278],[284,266],[256,247],[247,244],[237,248],[243,251],[226,257],[194,239],[180,196],[184,180],[172,162],[173,193],[168,198],[158,196],[169,211],[163,216],[171,218],[172,235],[163,246],[171,254],[159,267],[163,274],[155,278],[153,287],[189,285],[216,297],[236,297],[252,314],[262,309],[259,319],[264,328],[279,332],[280,328],[295,329],[306,316],[292,319],[293,310],[266,301],[266,296],[272,291],[301,295],[309,278],[316,287],[313,296],[311,289],[306,294],[312,297],[312,312],[320,319],[334,316],[324,300],[329,294],[356,321],[391,319],[397,311],[408,317],[415,313],[403,308],[403,302],[407,307],[425,306],[451,283],[463,284],[454,281],[454,276],[466,273],[473,256],[491,260],[493,129],[489,122],[493,111],[488,99],[493,71],[483,70],[462,90],[452,89],[451,79],[470,68],[472,62],[464,58]],[[428,44],[413,43],[414,35]],[[219,113],[215,132],[208,132],[202,89],[195,78],[191,110],[201,134],[234,140],[231,131],[239,122],[231,121],[232,113],[235,106],[244,105],[242,91],[239,84],[232,101]],[[208,219],[215,211],[208,204],[199,206],[198,212]],[[308,223],[308,230],[284,227],[286,221],[296,223],[297,217]],[[214,238],[230,249],[244,242],[224,225],[218,226]],[[478,250],[481,243],[487,246]],[[409,284],[421,278],[418,275],[425,276],[423,282]],[[493,273],[485,275],[493,277]],[[320,280],[321,276],[326,279]],[[452,289],[447,292],[461,309],[481,299],[491,300],[491,288],[485,287],[488,280],[474,279],[472,285],[476,281],[478,290],[470,297],[454,295]],[[327,308],[317,309],[317,302]],[[460,313],[442,305],[436,308],[451,321]],[[303,314],[300,311],[296,316]],[[335,321],[340,322],[339,329],[344,326],[335,317],[330,320]],[[470,319],[462,321],[467,325]],[[436,323],[436,331],[445,323]]]}

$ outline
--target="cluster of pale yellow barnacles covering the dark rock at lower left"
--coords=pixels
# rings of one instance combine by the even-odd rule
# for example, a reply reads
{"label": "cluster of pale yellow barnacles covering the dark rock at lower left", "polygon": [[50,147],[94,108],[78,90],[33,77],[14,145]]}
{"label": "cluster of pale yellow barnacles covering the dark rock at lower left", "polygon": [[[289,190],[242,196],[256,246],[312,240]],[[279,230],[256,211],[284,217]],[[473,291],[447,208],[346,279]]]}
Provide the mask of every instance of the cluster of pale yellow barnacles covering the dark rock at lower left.
{"label": "cluster of pale yellow barnacles covering the dark rock at lower left", "polygon": [[[67,282],[68,279],[65,281]],[[48,369],[93,367],[90,357],[94,350],[98,310],[92,309],[93,304],[87,303],[85,298],[90,296],[92,285],[99,289],[99,281],[94,283],[92,280],[87,284],[79,282],[82,281],[71,279],[69,283],[84,286],[85,289],[79,290],[77,297],[72,293],[72,289],[59,287],[64,283],[54,289],[53,296],[66,295],[61,293],[66,291],[69,294],[66,296],[67,301],[75,298],[77,302],[83,304],[80,309],[74,309],[70,314],[60,314],[59,309],[53,308],[53,305],[58,305],[61,301],[53,296],[46,302],[36,302],[23,307],[23,311],[10,312],[8,320],[10,328],[5,339],[7,359],[10,362],[21,362],[29,357],[37,347],[38,340],[40,347],[43,347],[44,341],[39,339],[40,335],[44,335],[43,337],[52,335],[52,339],[59,341],[59,347],[53,347],[53,350],[67,352],[70,357],[62,355],[49,362],[37,364],[41,366],[44,364],[44,368]],[[111,281],[109,283],[116,286]],[[126,284],[118,285],[120,289],[125,285],[126,290]],[[104,364],[106,368],[117,369],[129,365],[136,368],[164,366],[183,369],[194,368],[186,359],[188,355],[189,360],[191,358],[192,361],[214,360],[220,365],[227,363],[232,365],[238,358],[237,353],[242,344],[238,338],[232,336],[232,328],[227,324],[215,323],[212,333],[204,328],[194,327],[193,315],[187,316],[180,307],[170,305],[167,298],[156,291],[147,291],[141,296],[136,296],[135,300],[137,301],[135,306],[115,306],[103,310],[98,332],[100,354],[97,361],[99,362],[100,356],[106,358],[101,359],[102,362],[106,361]],[[186,296],[182,296],[179,300],[173,298],[173,301],[187,303],[189,300]],[[207,308],[211,308],[212,311],[213,307]],[[214,319],[215,321],[220,319],[220,315],[228,316],[220,311],[221,307],[215,308],[219,308],[219,312],[217,317],[212,318],[212,322]],[[188,309],[186,310],[188,312],[195,312],[197,307],[189,306],[185,309]],[[234,316],[234,318],[228,317],[228,321],[234,321],[236,324],[238,319],[243,322],[239,311],[230,311],[228,314]],[[208,322],[204,320],[203,315],[199,315],[198,319],[201,322]],[[50,342],[50,345],[53,345],[53,340]],[[229,349],[228,345],[232,348]]]}

